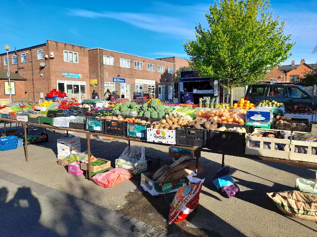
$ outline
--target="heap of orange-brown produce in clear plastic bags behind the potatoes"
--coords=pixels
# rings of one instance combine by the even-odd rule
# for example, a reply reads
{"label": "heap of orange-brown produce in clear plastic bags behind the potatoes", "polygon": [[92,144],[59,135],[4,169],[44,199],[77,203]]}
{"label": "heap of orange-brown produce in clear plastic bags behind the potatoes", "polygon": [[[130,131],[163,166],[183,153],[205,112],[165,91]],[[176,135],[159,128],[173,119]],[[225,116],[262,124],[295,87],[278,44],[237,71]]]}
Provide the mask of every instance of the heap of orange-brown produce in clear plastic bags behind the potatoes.
{"label": "heap of orange-brown produce in clear plastic bags behind the potatoes", "polygon": [[196,114],[198,117],[214,119],[217,123],[241,124],[245,123],[246,109],[200,109]]}

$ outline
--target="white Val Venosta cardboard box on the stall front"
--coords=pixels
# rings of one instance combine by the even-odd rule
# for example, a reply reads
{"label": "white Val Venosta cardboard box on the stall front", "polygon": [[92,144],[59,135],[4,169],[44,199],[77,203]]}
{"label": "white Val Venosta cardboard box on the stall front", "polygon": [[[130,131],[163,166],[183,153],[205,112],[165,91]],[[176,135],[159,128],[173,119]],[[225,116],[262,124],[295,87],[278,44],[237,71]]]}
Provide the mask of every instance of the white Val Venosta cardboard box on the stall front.
{"label": "white Val Venosta cardboard box on the stall front", "polygon": [[146,141],[175,145],[176,130],[147,128]]}

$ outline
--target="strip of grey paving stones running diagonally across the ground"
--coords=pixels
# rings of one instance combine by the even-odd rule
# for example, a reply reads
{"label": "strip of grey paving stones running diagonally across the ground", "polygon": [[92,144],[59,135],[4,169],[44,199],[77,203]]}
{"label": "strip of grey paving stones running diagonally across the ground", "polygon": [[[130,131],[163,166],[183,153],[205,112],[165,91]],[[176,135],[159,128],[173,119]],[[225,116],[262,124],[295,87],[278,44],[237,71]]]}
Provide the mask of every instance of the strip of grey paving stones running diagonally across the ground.
{"label": "strip of grey paving stones running diagonally across the ground", "polygon": [[[31,191],[35,192],[38,195],[48,197],[56,202],[60,202],[62,204],[70,206],[71,208],[98,217],[101,220],[120,226],[121,228],[134,232],[135,234],[138,234],[140,236],[167,236],[166,230],[162,230],[161,228],[146,224],[145,222],[139,221],[129,216],[124,216],[119,212],[107,209],[84,199],[80,199],[71,194],[52,189],[45,185],[36,183],[32,180],[20,177],[18,175],[8,173],[1,169],[0,179],[6,180],[18,186],[28,186],[30,187]],[[178,237],[177,234],[174,234],[173,236]]]}

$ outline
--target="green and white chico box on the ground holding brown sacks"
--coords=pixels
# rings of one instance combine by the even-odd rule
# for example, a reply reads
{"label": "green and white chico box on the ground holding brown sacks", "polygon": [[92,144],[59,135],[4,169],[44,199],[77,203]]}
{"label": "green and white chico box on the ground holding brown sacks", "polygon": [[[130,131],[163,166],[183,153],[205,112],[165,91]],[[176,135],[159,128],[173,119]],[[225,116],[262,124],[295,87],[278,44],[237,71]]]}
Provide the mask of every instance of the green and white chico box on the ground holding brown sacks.
{"label": "green and white chico box on the ground holding brown sacks", "polygon": [[151,173],[141,173],[141,186],[145,191],[148,191],[152,196],[176,192],[180,187],[183,187],[187,178],[180,179],[171,183],[155,182],[152,179]]}

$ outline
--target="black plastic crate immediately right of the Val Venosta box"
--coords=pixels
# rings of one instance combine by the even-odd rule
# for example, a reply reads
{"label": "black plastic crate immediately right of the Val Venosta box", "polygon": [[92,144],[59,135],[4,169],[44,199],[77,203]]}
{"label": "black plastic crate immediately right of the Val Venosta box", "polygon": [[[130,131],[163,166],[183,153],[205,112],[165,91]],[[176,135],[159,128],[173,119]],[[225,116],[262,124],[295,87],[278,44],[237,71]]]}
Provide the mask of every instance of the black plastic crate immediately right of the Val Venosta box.
{"label": "black plastic crate immediately right of the Val Venosta box", "polygon": [[207,133],[206,129],[176,128],[176,145],[204,147]]}

